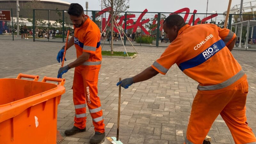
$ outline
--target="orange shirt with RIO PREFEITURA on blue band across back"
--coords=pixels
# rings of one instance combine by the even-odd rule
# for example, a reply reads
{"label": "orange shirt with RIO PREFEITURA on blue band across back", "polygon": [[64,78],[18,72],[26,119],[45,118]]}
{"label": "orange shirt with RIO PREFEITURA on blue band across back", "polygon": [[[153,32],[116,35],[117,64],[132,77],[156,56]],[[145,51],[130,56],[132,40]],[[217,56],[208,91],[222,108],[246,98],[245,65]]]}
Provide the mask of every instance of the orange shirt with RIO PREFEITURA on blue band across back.
{"label": "orange shirt with RIO PREFEITURA on blue band across back", "polygon": [[165,75],[176,63],[199,83],[198,92],[225,92],[246,78],[227,47],[235,37],[229,29],[213,24],[185,25],[152,68]]}

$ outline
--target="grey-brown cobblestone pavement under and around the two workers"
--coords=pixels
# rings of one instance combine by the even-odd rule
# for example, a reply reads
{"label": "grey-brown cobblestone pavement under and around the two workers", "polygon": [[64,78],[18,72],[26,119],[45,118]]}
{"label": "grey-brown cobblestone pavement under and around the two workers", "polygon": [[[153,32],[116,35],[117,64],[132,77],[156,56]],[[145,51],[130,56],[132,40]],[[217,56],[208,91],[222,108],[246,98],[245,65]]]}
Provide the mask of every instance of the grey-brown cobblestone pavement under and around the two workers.
{"label": "grey-brown cobblestone pavement under and around the two workers", "polygon": [[[60,64],[56,55],[64,43],[32,42],[32,40],[3,40],[1,42],[0,78],[16,77],[18,73],[56,77]],[[134,52],[132,47],[126,47]],[[107,136],[116,137],[119,77],[127,78],[149,67],[165,48],[136,47],[139,56],[135,59],[103,58],[99,74],[99,97],[103,108]],[[104,46],[103,50],[109,50]],[[115,51],[124,51],[121,46]],[[233,55],[248,76],[247,122],[256,133],[256,52],[233,51]],[[75,60],[74,48],[68,50],[65,64]],[[94,134],[90,115],[87,115],[86,132],[65,136],[64,131],[73,126],[75,108],[72,100],[74,69],[63,75],[66,78],[66,93],[58,106],[58,130],[63,136],[61,144],[88,144]],[[182,144],[186,136],[188,116],[197,82],[184,75],[173,65],[169,72],[133,84],[129,89],[122,88],[121,120],[119,138],[123,143]],[[212,144],[234,143],[223,119],[218,116],[210,132]]]}

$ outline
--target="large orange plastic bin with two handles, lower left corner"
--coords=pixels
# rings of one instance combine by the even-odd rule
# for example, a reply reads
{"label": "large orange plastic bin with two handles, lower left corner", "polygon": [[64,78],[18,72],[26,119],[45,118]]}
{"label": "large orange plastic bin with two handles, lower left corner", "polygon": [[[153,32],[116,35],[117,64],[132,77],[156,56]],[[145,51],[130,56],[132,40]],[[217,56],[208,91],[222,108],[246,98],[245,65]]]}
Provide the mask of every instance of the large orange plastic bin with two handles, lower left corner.
{"label": "large orange plastic bin with two handles, lower left corner", "polygon": [[65,79],[38,79],[24,74],[0,79],[0,144],[56,144],[57,108]]}

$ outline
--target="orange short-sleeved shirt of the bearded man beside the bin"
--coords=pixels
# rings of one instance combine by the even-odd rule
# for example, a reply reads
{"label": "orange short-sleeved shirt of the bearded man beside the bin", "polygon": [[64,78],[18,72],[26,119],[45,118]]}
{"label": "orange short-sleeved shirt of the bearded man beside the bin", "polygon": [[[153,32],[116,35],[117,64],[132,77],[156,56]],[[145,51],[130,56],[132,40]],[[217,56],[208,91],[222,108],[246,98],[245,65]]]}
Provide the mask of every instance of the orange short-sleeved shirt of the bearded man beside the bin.
{"label": "orange short-sleeved shirt of the bearded man beside the bin", "polygon": [[84,22],[84,24],[79,28],[74,27],[76,56],[78,58],[83,52],[90,53],[89,59],[83,63],[83,66],[99,68],[102,60],[100,29],[92,20],[90,20],[89,16],[85,16],[88,19]]}

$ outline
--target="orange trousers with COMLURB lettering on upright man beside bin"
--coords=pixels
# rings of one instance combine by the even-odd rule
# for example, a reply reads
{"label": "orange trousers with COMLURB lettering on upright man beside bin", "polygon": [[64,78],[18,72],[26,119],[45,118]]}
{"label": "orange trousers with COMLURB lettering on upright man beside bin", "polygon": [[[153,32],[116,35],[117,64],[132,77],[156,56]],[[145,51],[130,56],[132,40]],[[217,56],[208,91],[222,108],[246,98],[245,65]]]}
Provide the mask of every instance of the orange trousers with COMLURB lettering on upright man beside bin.
{"label": "orange trousers with COMLURB lettering on upright man beside bin", "polygon": [[92,116],[95,132],[105,132],[100,98],[98,97],[98,76],[100,68],[75,68],[73,81],[73,101],[76,109],[74,126],[86,127],[86,104]]}

